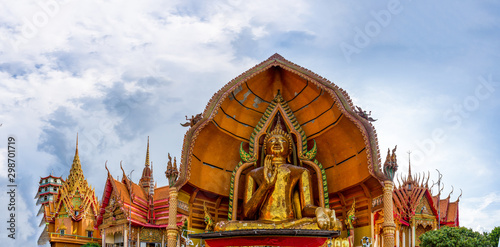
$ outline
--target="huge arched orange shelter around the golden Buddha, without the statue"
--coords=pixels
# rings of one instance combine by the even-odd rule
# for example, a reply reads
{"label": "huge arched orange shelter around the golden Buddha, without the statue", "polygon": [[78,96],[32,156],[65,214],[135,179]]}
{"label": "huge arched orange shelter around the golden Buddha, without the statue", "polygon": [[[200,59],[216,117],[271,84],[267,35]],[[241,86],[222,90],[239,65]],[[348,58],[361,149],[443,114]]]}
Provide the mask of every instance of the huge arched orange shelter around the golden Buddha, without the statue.
{"label": "huge arched orange shelter around the golden Buddha, without the statue", "polygon": [[[373,202],[389,202],[385,210],[393,211],[395,154],[381,163],[373,119],[346,91],[278,54],[231,80],[191,122],[175,184],[189,205],[189,230],[204,231],[204,205],[215,222],[246,218],[246,176],[263,166],[264,137],[278,118],[292,139],[290,163],[310,174],[312,203],[333,209],[344,224],[339,238],[374,236],[384,209]],[[347,229],[353,205],[356,221]],[[393,221],[392,213],[385,217]],[[395,224],[384,227],[394,241]]]}

